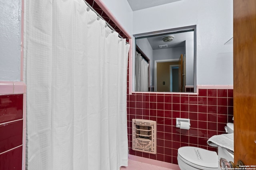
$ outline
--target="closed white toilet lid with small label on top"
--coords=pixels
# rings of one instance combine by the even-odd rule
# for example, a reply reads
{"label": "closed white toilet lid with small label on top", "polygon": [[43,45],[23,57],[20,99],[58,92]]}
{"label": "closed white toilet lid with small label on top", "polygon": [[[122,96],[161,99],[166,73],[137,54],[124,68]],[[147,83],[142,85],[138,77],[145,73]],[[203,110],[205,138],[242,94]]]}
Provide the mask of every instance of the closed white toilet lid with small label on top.
{"label": "closed white toilet lid with small label on top", "polygon": [[197,148],[181,147],[178,154],[186,161],[206,168],[218,168],[218,155],[214,151]]}

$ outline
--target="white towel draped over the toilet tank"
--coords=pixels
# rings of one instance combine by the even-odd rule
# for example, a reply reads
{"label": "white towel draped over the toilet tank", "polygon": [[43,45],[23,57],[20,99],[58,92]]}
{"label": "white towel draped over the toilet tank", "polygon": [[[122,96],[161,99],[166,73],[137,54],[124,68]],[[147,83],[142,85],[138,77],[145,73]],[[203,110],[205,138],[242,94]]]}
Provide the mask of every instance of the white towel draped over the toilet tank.
{"label": "white towel draped over the toilet tank", "polygon": [[223,147],[234,152],[234,133],[214,135],[207,141],[212,147]]}

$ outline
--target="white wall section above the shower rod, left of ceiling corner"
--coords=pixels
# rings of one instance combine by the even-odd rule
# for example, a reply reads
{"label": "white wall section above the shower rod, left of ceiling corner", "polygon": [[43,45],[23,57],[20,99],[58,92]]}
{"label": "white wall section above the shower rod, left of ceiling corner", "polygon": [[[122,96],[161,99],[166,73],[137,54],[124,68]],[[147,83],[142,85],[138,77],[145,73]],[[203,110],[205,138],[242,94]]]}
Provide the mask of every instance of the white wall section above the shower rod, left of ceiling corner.
{"label": "white wall section above the shower rod, left of ceiling corner", "polygon": [[115,16],[116,20],[132,36],[132,16],[133,12],[127,0],[100,0],[109,11]]}

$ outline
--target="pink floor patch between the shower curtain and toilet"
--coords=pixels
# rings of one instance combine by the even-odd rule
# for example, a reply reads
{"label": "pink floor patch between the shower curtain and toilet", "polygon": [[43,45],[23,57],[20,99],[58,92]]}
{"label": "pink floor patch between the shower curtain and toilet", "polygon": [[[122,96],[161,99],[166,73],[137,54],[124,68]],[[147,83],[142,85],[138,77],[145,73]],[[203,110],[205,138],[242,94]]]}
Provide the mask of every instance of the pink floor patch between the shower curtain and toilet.
{"label": "pink floor patch between the shower curtain and toilet", "polygon": [[179,170],[179,168],[175,167],[174,169],[169,169],[161,166],[137,162],[135,160],[128,160],[128,166],[122,166],[120,167],[120,170]]}

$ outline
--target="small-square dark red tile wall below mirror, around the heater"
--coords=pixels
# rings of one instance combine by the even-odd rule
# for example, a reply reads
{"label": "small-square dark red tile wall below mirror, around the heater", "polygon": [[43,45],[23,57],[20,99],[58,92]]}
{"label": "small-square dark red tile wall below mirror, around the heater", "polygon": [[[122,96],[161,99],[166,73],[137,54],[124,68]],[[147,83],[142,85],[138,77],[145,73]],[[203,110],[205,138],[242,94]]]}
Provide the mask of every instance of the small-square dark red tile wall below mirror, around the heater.
{"label": "small-square dark red tile wall below mirror, around the heater", "polygon": [[[176,118],[189,118],[190,129],[176,128]],[[233,117],[232,89],[199,89],[198,94],[127,94],[129,152],[136,156],[178,164],[178,148],[194,146],[217,151],[207,145],[213,135],[225,133]],[[132,119],[157,123],[157,154],[132,150]]]}

